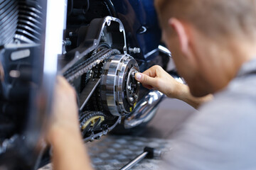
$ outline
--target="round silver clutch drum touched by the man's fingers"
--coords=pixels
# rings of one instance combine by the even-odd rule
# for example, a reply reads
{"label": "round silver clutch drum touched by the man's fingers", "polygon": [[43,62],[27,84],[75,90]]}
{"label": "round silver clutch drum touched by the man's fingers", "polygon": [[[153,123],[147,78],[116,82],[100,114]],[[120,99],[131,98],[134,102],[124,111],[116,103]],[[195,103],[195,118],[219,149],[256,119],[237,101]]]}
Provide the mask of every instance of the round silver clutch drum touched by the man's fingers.
{"label": "round silver clutch drum touched by the man's fingers", "polygon": [[[129,55],[112,55],[104,64],[101,81],[102,103],[105,110],[112,115],[125,115],[134,109],[139,95],[134,72],[139,72],[139,66]],[[131,98],[133,99],[130,100]]]}

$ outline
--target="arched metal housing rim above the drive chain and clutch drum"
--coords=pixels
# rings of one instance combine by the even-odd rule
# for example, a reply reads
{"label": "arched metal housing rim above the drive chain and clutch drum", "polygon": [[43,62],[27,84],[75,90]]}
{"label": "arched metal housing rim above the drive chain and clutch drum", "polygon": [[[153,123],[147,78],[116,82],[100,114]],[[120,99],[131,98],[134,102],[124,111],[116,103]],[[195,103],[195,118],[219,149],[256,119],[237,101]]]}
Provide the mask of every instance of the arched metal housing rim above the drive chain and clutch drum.
{"label": "arched metal housing rim above the drive chain and clutch drum", "polygon": [[[98,30],[99,28],[95,28],[94,23],[97,23],[97,26],[99,26],[99,24],[101,25],[100,30]],[[80,45],[80,47],[78,47],[78,50],[75,49],[68,53],[68,55],[71,55],[73,59],[63,63],[64,65],[62,66],[63,68],[61,69],[62,74],[67,72],[68,69],[70,69],[71,67],[73,67],[73,65],[75,65],[80,60],[82,60],[82,58],[85,57],[85,55],[87,55],[89,52],[92,52],[100,45],[100,40],[102,40],[101,36],[105,34],[107,28],[112,26],[112,23],[114,23],[112,28],[114,28],[114,26],[117,26],[116,24],[118,24],[119,33],[122,33],[123,35],[122,37],[124,40],[124,42],[122,42],[123,46],[122,46],[122,49],[118,49],[118,50],[121,50],[124,52],[124,54],[127,54],[126,35],[125,35],[124,26],[122,22],[118,18],[114,18],[112,16],[106,16],[103,19],[95,19],[92,21],[92,23],[90,23],[90,27],[88,28],[89,33],[85,37],[85,42],[82,45]],[[120,40],[120,38],[114,37],[114,35],[115,34],[110,34],[109,39]],[[116,43],[117,42],[114,42],[114,41],[110,42],[110,44],[112,45]],[[117,48],[117,47],[112,47],[112,48]]]}

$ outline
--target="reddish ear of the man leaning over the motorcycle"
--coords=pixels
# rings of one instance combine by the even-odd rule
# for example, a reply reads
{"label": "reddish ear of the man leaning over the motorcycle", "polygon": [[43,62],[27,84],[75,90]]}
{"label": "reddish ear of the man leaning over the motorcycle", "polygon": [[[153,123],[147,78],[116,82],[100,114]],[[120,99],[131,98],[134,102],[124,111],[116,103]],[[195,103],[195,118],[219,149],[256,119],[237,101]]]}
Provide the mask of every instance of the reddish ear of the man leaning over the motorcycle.
{"label": "reddish ear of the man leaning over the motorcycle", "polygon": [[176,18],[169,19],[169,26],[174,29],[174,31],[178,35],[179,46],[181,48],[181,52],[184,55],[188,55],[188,34],[186,33],[186,26],[181,22],[178,21]]}

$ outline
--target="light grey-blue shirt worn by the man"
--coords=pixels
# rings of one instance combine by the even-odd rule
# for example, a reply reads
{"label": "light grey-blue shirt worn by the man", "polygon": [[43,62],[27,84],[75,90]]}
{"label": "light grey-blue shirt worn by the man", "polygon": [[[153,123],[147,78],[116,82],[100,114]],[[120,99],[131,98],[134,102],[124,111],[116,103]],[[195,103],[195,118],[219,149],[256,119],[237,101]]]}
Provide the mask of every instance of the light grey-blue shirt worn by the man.
{"label": "light grey-blue shirt worn by the man", "polygon": [[183,126],[166,169],[256,169],[256,59]]}

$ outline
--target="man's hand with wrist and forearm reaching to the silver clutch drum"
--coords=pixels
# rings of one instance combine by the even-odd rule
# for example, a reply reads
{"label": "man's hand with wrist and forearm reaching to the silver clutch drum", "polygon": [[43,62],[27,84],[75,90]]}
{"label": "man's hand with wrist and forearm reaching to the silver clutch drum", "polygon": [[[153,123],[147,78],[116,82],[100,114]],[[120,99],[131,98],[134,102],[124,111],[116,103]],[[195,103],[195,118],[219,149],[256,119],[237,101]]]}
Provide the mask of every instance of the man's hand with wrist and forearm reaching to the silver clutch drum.
{"label": "man's hand with wrist and forearm reaching to the silver clutch drum", "polygon": [[137,73],[135,79],[142,83],[147,89],[161,91],[163,94],[166,94],[166,96],[184,101],[196,109],[201,106],[202,103],[210,101],[213,98],[211,94],[201,98],[192,96],[188,86],[176,81],[160,66],[153,66],[143,73]]}

